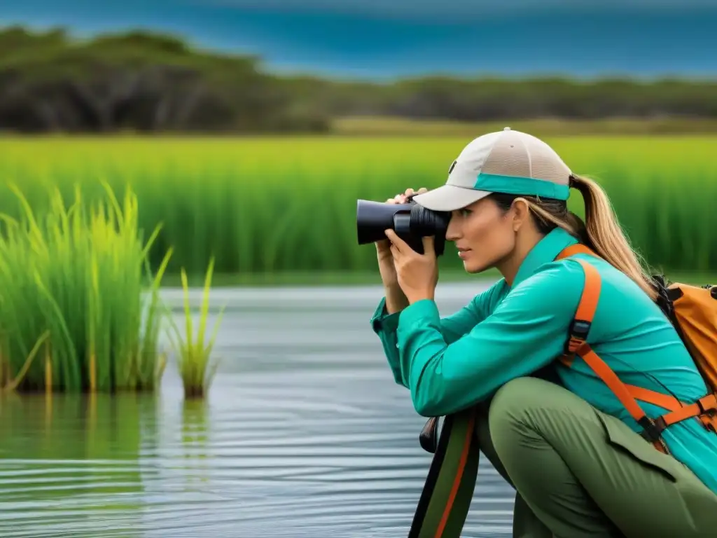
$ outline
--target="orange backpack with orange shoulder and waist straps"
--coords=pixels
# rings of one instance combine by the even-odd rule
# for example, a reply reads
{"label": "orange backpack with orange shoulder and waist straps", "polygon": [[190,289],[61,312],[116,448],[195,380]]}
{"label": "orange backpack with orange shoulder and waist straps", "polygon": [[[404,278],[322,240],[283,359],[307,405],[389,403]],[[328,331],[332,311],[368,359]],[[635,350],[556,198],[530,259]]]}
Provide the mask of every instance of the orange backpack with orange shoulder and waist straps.
{"label": "orange backpack with orange shoulder and waist straps", "polygon": [[[574,254],[589,254],[599,258],[585,245],[571,245],[563,250],[556,260]],[[703,287],[683,283],[666,285],[662,277],[653,277],[660,291],[657,305],[668,316],[680,335],[708,387],[708,394],[697,402],[685,403],[662,392],[623,383],[607,363],[590,348],[586,340],[597,308],[601,281],[597,269],[584,260],[576,261],[584,270],[585,284],[570,326],[566,353],[559,360],[567,367],[571,367],[574,357],[576,355],[581,357],[614,392],[632,418],[642,426],[640,435],[663,453],[669,453],[669,450],[662,433],[672,424],[695,418],[700,420],[707,430],[717,433],[717,285]],[[645,415],[637,400],[657,405],[668,412],[652,419]]]}

